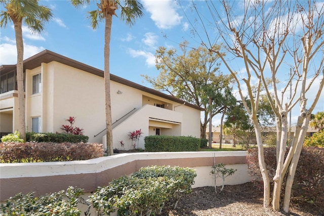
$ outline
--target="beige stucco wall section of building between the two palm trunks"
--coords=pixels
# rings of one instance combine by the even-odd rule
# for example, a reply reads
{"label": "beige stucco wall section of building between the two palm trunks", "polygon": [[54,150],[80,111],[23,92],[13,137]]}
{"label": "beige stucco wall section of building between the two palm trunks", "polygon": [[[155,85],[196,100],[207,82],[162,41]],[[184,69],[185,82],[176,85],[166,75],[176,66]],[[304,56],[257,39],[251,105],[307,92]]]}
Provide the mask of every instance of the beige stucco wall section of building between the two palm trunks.
{"label": "beige stucco wall section of building between the two palm trunks", "polygon": [[[42,73],[42,91],[32,94],[32,76]],[[75,117],[74,126],[84,129],[89,142],[100,142],[94,135],[104,128],[103,78],[58,62],[26,70],[26,125],[41,117],[42,132],[63,132],[65,119]]]}

